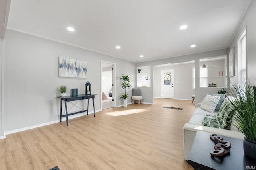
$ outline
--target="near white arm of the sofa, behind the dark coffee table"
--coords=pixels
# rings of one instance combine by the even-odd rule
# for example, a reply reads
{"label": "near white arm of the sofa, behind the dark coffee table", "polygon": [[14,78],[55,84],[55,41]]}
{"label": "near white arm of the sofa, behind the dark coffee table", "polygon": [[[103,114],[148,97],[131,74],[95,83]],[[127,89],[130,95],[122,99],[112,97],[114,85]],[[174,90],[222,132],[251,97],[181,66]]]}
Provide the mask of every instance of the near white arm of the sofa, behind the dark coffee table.
{"label": "near white arm of the sofa, behind the dark coffee table", "polygon": [[218,134],[226,137],[244,139],[244,134],[238,131],[230,131],[226,129],[218,129],[215,127],[185,123],[183,127],[183,158],[184,160],[188,160],[188,155],[190,153],[197,131],[204,131],[204,132]]}

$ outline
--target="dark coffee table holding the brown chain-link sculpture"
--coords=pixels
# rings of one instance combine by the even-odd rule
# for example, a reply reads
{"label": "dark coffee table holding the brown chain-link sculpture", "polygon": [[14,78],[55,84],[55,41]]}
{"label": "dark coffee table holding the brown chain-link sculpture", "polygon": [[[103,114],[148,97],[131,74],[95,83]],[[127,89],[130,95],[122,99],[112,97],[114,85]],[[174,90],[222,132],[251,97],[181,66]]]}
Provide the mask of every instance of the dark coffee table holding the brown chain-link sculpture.
{"label": "dark coffee table holding the brown chain-link sculpture", "polygon": [[194,143],[188,156],[188,164],[195,170],[248,170],[256,169],[256,161],[244,155],[243,140],[225,137],[223,141],[230,141],[230,154],[220,163],[210,155],[214,141],[210,139],[212,133],[197,131]]}

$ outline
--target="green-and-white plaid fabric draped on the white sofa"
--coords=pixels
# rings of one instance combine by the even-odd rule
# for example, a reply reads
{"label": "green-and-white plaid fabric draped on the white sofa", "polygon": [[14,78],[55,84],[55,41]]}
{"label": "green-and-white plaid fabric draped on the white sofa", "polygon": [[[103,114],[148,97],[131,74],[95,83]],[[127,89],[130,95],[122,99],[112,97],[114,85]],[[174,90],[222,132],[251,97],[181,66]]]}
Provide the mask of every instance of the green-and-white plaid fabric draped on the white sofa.
{"label": "green-and-white plaid fabric draped on the white sofa", "polygon": [[230,130],[234,114],[234,107],[230,103],[230,100],[234,100],[234,98],[232,96],[228,96],[224,99],[217,115],[206,115],[204,117],[204,125]]}

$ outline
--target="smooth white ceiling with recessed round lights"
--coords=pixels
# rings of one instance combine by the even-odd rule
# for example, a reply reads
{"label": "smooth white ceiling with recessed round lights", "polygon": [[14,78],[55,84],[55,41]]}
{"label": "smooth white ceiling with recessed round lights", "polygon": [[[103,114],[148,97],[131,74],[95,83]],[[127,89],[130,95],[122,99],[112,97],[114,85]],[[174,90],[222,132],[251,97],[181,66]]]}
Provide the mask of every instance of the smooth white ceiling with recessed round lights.
{"label": "smooth white ceiling with recessed round lights", "polygon": [[[250,0],[12,0],[8,29],[134,62],[227,48]],[[181,25],[188,25],[180,30]],[[67,27],[74,27],[70,32]],[[190,45],[195,44],[195,48]],[[116,49],[120,45],[120,49]],[[144,57],[139,57],[144,55]]]}

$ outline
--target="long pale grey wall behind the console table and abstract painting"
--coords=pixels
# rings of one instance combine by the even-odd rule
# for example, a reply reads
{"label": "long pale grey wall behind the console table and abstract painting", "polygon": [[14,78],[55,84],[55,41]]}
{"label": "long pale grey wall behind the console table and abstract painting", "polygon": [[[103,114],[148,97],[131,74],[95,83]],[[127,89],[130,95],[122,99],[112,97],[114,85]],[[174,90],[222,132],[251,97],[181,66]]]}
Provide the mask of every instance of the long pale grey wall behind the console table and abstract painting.
{"label": "long pale grey wall behind the console table and abstract painting", "polygon": [[[88,77],[58,77],[59,56],[87,61]],[[59,120],[60,99],[56,98],[55,89],[60,85],[66,85],[69,89],[78,88],[78,93],[83,94],[86,81],[90,81],[92,93],[98,94],[95,98],[95,109],[99,111],[101,60],[116,63],[116,75],[130,75],[131,85],[134,86],[136,64],[133,62],[7,29],[4,62],[4,132]],[[123,89],[119,79],[115,83],[116,106],[121,106],[123,103],[119,97]],[[132,90],[129,89],[128,93],[131,96]],[[80,101],[78,106],[86,108],[85,103]],[[93,112],[92,101],[89,111]]]}

